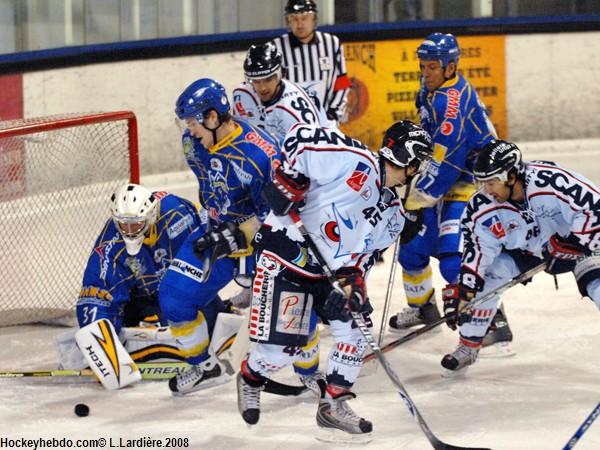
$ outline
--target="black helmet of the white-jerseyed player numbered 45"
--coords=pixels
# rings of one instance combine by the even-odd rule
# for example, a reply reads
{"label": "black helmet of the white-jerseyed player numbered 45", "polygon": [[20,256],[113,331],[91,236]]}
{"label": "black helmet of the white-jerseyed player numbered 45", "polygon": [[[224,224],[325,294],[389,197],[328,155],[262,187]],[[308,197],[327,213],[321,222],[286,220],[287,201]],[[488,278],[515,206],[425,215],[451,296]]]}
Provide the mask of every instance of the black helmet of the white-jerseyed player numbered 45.
{"label": "black helmet of the white-jerseyed player numbered 45", "polygon": [[429,161],[433,155],[431,136],[419,125],[401,120],[389,127],[383,136],[379,154],[397,167]]}

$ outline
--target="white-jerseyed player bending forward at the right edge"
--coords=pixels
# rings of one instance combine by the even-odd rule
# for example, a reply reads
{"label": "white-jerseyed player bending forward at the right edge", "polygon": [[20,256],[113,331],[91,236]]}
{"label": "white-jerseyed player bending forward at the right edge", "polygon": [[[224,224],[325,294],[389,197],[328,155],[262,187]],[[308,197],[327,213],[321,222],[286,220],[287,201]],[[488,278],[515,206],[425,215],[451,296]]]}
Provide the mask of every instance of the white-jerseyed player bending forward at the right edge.
{"label": "white-jerseyed player bending forward at the right edge", "polygon": [[474,167],[482,189],[462,218],[464,252],[458,283],[444,290],[448,325],[460,326],[457,349],[442,366],[473,364],[496,296],[463,313],[470,300],[518,276],[538,258],[552,274],[573,271],[581,295],[600,308],[600,190],[583,176],[552,162],[523,162],[510,142],[493,141]]}

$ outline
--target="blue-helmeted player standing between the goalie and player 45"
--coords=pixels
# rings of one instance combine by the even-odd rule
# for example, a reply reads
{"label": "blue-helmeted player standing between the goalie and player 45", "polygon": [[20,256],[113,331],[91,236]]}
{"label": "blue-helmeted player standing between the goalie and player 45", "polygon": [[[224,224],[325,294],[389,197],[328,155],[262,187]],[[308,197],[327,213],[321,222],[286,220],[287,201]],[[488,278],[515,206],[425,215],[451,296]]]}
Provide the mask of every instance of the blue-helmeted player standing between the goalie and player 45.
{"label": "blue-helmeted player standing between the goalie and player 45", "polygon": [[269,205],[263,187],[279,159],[275,140],[231,117],[225,89],[202,78],[179,96],[175,113],[184,128],[183,151],[199,184],[209,231],[189,236],[161,282],[160,307],[180,350],[193,369],[169,382],[183,395],[227,381],[224,366],[209,354],[206,312],[232,280],[248,283],[253,273],[251,241]]}

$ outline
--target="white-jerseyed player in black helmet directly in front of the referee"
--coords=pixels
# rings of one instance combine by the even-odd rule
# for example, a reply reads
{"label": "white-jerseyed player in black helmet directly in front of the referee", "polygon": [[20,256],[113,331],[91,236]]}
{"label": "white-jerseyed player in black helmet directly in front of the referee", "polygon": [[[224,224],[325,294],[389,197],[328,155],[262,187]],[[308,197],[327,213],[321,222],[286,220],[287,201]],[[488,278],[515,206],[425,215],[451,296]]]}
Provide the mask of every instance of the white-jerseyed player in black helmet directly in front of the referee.
{"label": "white-jerseyed player in black helmet directly in front of the referee", "polygon": [[273,43],[252,45],[244,60],[246,81],[233,91],[233,115],[263,128],[281,142],[296,123],[329,125],[297,84],[282,79],[281,53]]}

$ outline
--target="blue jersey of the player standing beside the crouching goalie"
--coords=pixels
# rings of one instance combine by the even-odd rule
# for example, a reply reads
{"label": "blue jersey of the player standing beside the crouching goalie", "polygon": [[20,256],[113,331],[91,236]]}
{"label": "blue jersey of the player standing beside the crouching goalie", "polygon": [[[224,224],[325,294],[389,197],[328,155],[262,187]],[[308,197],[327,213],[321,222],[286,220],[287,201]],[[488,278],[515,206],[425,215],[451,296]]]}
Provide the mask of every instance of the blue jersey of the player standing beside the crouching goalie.
{"label": "blue jersey of the player standing beside the crouching goalie", "polygon": [[262,222],[270,209],[261,192],[271,181],[279,147],[270,134],[242,120],[234,122],[235,131],[208,149],[189,130],[182,138],[212,227],[225,221],[241,223],[253,215]]}

